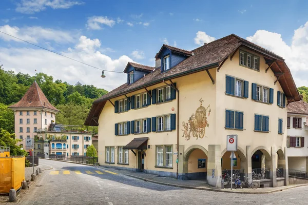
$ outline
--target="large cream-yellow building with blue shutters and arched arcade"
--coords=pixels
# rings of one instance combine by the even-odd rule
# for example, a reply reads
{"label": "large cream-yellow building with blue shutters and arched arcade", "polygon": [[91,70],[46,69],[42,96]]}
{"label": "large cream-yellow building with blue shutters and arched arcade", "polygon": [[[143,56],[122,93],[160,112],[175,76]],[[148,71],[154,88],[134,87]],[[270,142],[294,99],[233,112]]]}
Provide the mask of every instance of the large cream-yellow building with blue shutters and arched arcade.
{"label": "large cream-yellow building with blue shutters and arched arcade", "polygon": [[219,187],[226,137],[236,134],[235,170],[288,184],[286,105],[300,96],[282,57],[232,34],[192,51],[163,45],[156,67],[124,72],[127,82],[95,100],[85,121],[99,126],[100,165]]}

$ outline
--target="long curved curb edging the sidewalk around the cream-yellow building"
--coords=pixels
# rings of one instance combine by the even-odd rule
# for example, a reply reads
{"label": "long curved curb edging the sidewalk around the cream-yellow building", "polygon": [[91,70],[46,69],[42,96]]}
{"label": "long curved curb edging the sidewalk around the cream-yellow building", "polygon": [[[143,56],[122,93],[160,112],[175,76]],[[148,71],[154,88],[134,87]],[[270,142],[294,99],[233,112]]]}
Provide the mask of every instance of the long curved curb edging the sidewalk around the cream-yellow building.
{"label": "long curved curb edging the sidewalk around the cream-yellow building", "polygon": [[293,188],[297,188],[297,187],[308,186],[308,183],[305,183],[303,185],[295,185],[295,186],[292,186],[292,187],[284,187],[284,188],[281,188],[281,189],[271,190],[271,191],[264,191],[264,192],[237,192],[237,191],[227,191],[227,190],[223,190],[223,189],[210,189],[210,188],[174,185],[172,183],[164,183],[164,182],[159,182],[159,181],[153,181],[153,180],[149,180],[149,179],[146,179],[146,178],[142,178],[142,177],[138,177],[138,176],[133,176],[133,175],[129,175],[129,174],[124,174],[124,175],[130,176],[132,178],[136,178],[136,179],[152,182],[152,183],[157,183],[159,185],[170,186],[170,187],[179,187],[179,188],[184,188],[184,189],[197,189],[197,190],[212,191],[212,192],[237,193],[237,194],[271,194],[271,193],[280,192],[280,191],[283,191],[283,190],[288,190],[288,189],[293,189]]}

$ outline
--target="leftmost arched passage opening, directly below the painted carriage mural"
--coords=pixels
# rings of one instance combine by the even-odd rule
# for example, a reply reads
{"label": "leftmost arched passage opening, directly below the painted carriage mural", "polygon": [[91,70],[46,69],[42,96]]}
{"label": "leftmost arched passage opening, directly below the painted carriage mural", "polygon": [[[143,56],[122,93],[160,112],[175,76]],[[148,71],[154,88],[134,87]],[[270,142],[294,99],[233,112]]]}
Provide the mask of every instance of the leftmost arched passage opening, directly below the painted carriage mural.
{"label": "leftmost arched passage opening, directly below the painted carriage mural", "polygon": [[206,179],[207,150],[200,146],[190,146],[184,152],[183,180]]}

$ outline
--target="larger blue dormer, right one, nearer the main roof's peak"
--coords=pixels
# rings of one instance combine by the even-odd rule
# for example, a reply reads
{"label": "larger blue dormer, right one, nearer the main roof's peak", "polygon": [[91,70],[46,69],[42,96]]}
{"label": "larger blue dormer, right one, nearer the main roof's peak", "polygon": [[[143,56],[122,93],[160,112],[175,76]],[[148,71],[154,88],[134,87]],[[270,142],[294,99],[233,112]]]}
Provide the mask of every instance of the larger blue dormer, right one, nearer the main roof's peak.
{"label": "larger blue dormer, right one, nearer the main roof's peak", "polygon": [[194,55],[194,53],[191,51],[186,51],[164,44],[160,51],[156,54],[155,58],[160,59],[161,71],[163,72],[175,67],[192,55]]}

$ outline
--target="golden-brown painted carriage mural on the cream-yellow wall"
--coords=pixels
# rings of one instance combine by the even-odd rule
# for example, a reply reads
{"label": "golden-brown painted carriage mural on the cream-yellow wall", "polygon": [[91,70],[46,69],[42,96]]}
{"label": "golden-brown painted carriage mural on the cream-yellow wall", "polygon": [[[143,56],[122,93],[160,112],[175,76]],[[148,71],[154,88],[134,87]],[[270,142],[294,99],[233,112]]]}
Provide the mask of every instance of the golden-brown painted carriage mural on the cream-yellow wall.
{"label": "golden-brown painted carriage mural on the cream-yellow wall", "polygon": [[184,132],[182,137],[185,137],[185,140],[190,139],[190,133],[192,133],[193,137],[197,137],[197,139],[203,138],[205,135],[205,128],[209,126],[207,123],[206,113],[207,109],[209,109],[209,116],[211,109],[209,108],[209,105],[206,109],[202,106],[202,98],[199,101],[200,107],[196,110],[196,113],[191,114],[188,119],[188,122],[182,122],[182,127],[184,128],[184,130],[182,129],[182,131]]}

